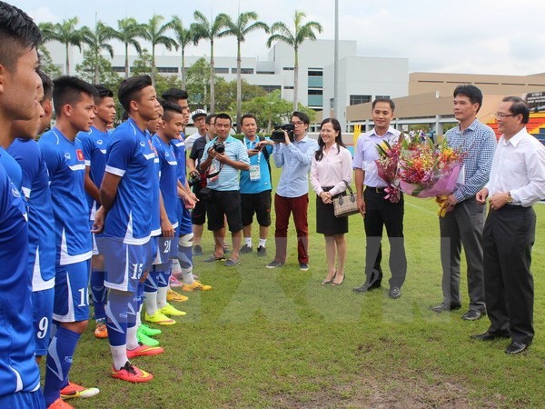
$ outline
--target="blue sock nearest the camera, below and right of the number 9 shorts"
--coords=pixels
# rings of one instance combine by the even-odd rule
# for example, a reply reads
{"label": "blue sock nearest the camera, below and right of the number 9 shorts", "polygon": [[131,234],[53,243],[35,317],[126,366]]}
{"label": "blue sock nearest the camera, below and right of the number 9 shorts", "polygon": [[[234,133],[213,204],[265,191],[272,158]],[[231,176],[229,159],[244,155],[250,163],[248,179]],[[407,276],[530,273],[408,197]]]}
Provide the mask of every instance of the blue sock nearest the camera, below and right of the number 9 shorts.
{"label": "blue sock nearest the camera, below and right of the number 9 shorts", "polygon": [[61,389],[68,382],[68,372],[72,366],[75,345],[79,338],[80,334],[59,326],[49,344],[45,366],[45,407],[61,397]]}

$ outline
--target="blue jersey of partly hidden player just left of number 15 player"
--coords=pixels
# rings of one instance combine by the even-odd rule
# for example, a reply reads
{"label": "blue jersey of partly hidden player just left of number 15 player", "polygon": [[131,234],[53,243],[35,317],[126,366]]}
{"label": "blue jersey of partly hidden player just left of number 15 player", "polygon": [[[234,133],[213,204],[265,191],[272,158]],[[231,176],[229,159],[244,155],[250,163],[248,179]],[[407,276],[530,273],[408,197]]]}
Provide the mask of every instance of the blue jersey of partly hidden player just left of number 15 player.
{"label": "blue jersey of partly hidden player just left of number 15 player", "polygon": [[[111,134],[102,132],[91,126],[89,132],[80,132],[77,138],[84,146],[85,166],[90,166],[89,177],[94,185],[100,189],[106,167],[106,148]],[[89,204],[89,220],[94,220],[94,214],[100,207],[91,195],[87,195]]]}

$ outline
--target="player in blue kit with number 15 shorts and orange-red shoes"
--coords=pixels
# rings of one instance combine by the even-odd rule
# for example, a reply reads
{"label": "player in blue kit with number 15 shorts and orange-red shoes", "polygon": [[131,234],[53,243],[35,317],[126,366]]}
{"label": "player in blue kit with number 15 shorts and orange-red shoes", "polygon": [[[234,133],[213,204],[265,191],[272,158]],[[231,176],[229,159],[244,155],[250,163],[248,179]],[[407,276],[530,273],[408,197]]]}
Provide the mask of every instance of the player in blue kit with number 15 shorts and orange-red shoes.
{"label": "player in blue kit with number 15 shorts and orange-red shoes", "polygon": [[163,353],[163,348],[139,344],[136,337],[138,284],[152,265],[150,209],[154,204],[150,193],[156,155],[147,124],[159,117],[161,105],[149,75],[124,80],[118,95],[129,119],[115,129],[108,146],[95,230],[100,231],[104,220],[104,234],[97,246],[104,251],[104,285],[109,288],[106,325],[114,358],[112,376],[143,383],[153,375],[129,359]]}

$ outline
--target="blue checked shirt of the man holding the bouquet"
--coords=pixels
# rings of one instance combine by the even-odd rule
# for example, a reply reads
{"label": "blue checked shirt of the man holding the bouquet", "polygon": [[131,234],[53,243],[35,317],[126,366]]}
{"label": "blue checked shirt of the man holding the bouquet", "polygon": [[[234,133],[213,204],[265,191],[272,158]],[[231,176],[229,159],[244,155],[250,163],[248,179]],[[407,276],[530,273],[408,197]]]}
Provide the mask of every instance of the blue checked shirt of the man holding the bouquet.
{"label": "blue checked shirt of the man holding the bouquet", "polygon": [[461,132],[458,125],[448,130],[445,137],[449,146],[466,153],[461,177],[453,192],[456,202],[460,203],[477,195],[487,184],[496,150],[496,135],[490,126],[475,119],[467,129]]}

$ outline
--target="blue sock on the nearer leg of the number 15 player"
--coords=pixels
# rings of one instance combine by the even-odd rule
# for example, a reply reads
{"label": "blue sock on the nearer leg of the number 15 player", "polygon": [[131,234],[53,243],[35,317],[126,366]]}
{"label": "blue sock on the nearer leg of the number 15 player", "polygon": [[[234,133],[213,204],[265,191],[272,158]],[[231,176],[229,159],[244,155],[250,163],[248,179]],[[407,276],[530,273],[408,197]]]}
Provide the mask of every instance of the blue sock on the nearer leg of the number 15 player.
{"label": "blue sock on the nearer leg of the number 15 player", "polygon": [[126,291],[110,290],[106,304],[106,326],[108,340],[112,346],[121,346],[127,343],[127,321],[129,303],[134,294]]}

